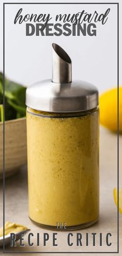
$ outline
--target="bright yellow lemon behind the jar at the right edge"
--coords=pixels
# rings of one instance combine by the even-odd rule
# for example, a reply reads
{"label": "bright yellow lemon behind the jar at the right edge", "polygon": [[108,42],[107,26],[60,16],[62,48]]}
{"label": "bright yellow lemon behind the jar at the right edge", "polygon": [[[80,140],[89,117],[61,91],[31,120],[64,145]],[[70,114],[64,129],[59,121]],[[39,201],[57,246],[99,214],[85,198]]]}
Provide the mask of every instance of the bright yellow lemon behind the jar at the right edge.
{"label": "bright yellow lemon behind the jar at the right edge", "polygon": [[[100,124],[117,131],[117,88],[104,92],[99,98]],[[119,87],[119,132],[122,132],[122,86]]]}

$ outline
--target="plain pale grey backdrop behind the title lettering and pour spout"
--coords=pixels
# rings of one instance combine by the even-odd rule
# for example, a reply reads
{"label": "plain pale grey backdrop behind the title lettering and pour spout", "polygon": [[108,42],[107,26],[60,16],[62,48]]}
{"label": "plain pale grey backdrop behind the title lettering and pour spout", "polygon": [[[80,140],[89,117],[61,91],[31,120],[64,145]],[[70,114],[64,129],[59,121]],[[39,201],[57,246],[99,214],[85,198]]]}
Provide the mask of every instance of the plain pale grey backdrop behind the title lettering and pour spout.
{"label": "plain pale grey backdrop behind the title lettering and pour spout", "polygon": [[[34,1],[23,0],[18,2]],[[75,1],[70,0],[69,2]],[[84,0],[83,2],[90,3],[93,1]],[[25,35],[25,23],[21,25],[13,24],[14,17],[20,8],[23,8],[23,14],[50,13],[51,17],[55,17],[55,15],[58,13],[73,14],[82,11],[83,9],[91,13],[94,13],[95,10],[98,13],[102,13],[105,12],[107,8],[111,8],[111,11],[109,13],[109,19],[104,25],[101,23],[96,23],[96,37],[90,37],[88,35],[75,37],[66,37],[63,35],[59,37],[42,37],[34,35],[27,37]],[[53,20],[51,20],[51,23],[52,21]],[[36,81],[51,78],[52,42],[58,43],[70,55],[72,59],[73,79],[82,79],[91,82],[99,88],[100,92],[105,91],[105,89],[117,86],[117,5],[20,4],[5,6],[5,73],[10,79],[28,86],[29,84],[32,84]],[[2,44],[3,41],[1,40],[1,50]],[[3,64],[1,58],[0,69],[2,70],[2,68]]]}

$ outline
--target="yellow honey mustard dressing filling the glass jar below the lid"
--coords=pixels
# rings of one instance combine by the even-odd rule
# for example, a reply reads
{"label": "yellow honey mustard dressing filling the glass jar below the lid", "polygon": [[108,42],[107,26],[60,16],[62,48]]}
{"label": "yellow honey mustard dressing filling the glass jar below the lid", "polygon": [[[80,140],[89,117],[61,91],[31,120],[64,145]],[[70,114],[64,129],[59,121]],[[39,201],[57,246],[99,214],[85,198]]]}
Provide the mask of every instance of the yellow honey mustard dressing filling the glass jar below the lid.
{"label": "yellow honey mustard dressing filling the glass jar below the lid", "polygon": [[62,116],[27,110],[29,217],[68,228],[99,216],[99,111]]}

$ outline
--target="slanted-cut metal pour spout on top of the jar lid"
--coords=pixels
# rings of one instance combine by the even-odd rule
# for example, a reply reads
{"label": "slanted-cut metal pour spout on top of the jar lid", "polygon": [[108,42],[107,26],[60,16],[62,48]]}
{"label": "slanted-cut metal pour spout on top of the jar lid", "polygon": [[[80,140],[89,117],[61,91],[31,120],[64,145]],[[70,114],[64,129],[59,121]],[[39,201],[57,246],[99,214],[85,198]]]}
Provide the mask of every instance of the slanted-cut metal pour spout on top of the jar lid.
{"label": "slanted-cut metal pour spout on top of the jar lid", "polygon": [[71,59],[68,54],[56,43],[53,48],[53,78],[54,83],[71,83]]}

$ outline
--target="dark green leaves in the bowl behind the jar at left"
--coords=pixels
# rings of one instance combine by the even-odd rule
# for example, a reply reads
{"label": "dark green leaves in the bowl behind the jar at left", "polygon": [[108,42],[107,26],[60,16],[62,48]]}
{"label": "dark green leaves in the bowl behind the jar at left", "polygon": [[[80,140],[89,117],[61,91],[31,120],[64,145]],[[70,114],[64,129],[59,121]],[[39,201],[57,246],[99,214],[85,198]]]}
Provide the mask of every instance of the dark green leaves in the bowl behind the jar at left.
{"label": "dark green leaves in the bowl behind the jar at left", "polygon": [[[26,115],[26,88],[21,84],[5,78],[5,120],[16,119]],[[3,105],[3,73],[0,72],[0,104]],[[2,107],[0,122],[2,122]]]}

